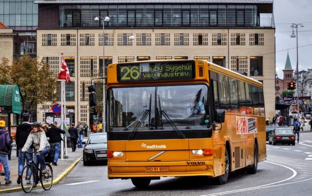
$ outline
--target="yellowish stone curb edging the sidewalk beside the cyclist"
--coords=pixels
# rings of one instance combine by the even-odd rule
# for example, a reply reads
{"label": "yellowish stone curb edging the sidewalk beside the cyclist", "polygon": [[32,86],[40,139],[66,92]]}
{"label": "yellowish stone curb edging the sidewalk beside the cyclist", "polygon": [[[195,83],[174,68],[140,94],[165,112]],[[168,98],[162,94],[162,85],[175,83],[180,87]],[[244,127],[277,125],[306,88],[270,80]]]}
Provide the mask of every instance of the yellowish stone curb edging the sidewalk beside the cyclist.
{"label": "yellowish stone curb edging the sidewalk beside the cyclist", "polygon": [[[77,158],[76,160],[74,160],[70,165],[68,165],[65,169],[63,169],[63,171],[56,177],[53,179],[53,184],[52,185],[56,185],[58,184],[62,179],[64,179],[69,173],[70,171],[82,160],[82,156]],[[34,189],[38,189],[41,188],[41,184],[34,188]],[[8,192],[17,192],[23,190],[22,186],[20,187],[13,187],[13,188],[7,188],[7,189],[2,189],[0,190],[0,194],[1,193],[8,193]]]}

